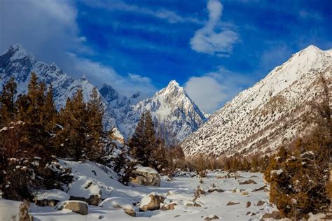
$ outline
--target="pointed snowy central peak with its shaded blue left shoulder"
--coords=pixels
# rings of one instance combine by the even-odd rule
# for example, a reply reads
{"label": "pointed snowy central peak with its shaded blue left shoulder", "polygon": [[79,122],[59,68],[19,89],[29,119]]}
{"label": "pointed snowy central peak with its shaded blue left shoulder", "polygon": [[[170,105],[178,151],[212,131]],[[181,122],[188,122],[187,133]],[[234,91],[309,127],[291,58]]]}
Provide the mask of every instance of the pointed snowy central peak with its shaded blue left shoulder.
{"label": "pointed snowy central peak with its shaded blue left shoulder", "polygon": [[[154,122],[160,127],[156,130],[169,143],[183,141],[197,130],[207,119],[198,106],[188,97],[183,87],[172,80],[167,87],[156,92],[153,97],[134,103],[134,97],[120,97],[109,86],[100,90],[118,114],[118,127],[125,137],[130,137],[139,122],[141,113],[151,112]],[[106,93],[108,92],[108,93]]]}

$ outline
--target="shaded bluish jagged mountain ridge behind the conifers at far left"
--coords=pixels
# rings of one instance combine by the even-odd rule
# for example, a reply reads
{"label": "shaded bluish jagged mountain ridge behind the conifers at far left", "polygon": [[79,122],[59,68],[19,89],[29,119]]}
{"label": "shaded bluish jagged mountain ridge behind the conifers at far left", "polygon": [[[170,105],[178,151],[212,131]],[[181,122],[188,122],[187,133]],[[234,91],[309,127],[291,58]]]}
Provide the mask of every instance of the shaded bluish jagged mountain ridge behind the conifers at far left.
{"label": "shaded bluish jagged mountain ridge behind the conifers at far left", "polygon": [[[0,90],[11,77],[14,77],[16,83],[18,83],[18,94],[25,94],[32,72],[36,73],[39,80],[47,85],[52,84],[55,106],[58,110],[66,104],[67,98],[72,97],[76,90],[80,88],[83,89],[85,101],[88,101],[95,87],[84,76],[80,79],[74,79],[63,73],[54,63],[48,65],[37,61],[21,45],[16,44],[11,45],[4,52],[4,55],[0,56]],[[102,102],[106,112],[104,117],[105,126],[111,128],[116,125],[114,119],[116,115],[103,97]]]}

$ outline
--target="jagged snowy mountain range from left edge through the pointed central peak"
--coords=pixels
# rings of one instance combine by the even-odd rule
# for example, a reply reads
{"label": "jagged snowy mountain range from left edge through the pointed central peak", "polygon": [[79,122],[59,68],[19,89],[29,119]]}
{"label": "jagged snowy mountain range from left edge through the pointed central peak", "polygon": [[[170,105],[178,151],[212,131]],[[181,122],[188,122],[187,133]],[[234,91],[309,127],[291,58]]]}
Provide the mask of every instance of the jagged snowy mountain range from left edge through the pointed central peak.
{"label": "jagged snowy mountain range from left edge through the pointed central peak", "polygon": [[[92,85],[85,77],[74,79],[56,64],[39,62],[21,45],[11,47],[0,56],[0,90],[12,76],[18,83],[18,94],[27,92],[31,72],[40,80],[53,85],[55,104],[60,109],[67,97],[72,97],[78,88],[83,89],[85,101],[90,98]],[[105,108],[105,125],[108,129],[117,127],[125,138],[132,135],[139,117],[144,110],[150,110],[155,121],[158,120],[162,136],[167,141],[183,141],[198,129],[207,119],[198,106],[188,97],[183,87],[172,81],[166,88],[148,98],[146,94],[137,92],[131,97],[118,94],[111,85],[104,85],[99,96]],[[165,134],[165,131],[169,131]]]}

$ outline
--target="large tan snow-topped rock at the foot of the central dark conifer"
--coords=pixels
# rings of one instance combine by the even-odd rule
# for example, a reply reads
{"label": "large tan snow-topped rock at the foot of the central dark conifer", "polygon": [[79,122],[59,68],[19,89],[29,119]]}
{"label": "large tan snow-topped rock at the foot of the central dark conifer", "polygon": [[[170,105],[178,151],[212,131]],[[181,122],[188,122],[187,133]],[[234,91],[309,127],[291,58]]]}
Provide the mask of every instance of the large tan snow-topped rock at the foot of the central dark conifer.
{"label": "large tan snow-topped rock at the foot of the central dark conifer", "polygon": [[151,167],[136,166],[136,170],[132,171],[134,178],[130,182],[137,185],[160,187],[160,176],[155,169]]}

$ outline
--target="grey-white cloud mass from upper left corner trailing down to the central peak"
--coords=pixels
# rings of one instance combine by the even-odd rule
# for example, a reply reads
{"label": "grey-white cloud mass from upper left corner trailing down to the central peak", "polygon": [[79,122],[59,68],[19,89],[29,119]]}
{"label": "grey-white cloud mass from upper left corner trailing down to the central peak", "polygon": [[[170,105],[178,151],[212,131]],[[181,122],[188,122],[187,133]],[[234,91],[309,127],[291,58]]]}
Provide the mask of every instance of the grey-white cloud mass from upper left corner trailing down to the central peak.
{"label": "grey-white cloud mass from upper left corner trailing down to the central peak", "polygon": [[[129,74],[121,76],[112,67],[79,57],[76,54],[94,55],[80,36],[76,23],[74,1],[67,0],[1,0],[0,50],[20,43],[42,62],[55,62],[71,76],[83,74],[94,84],[111,84],[120,93],[132,95],[137,91],[155,92],[149,78]],[[76,52],[70,53],[71,52]]]}

